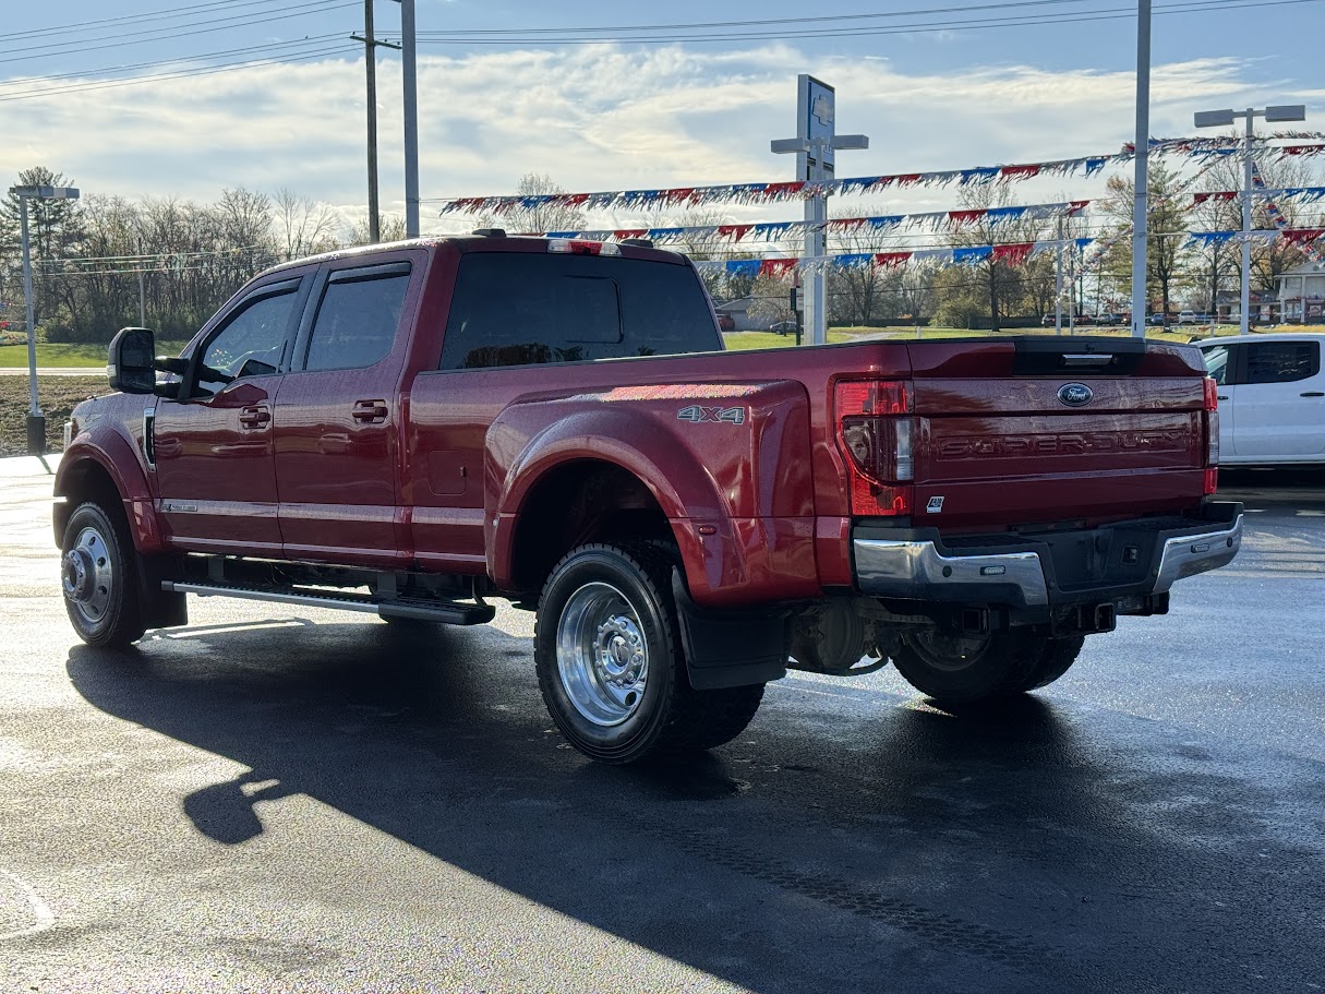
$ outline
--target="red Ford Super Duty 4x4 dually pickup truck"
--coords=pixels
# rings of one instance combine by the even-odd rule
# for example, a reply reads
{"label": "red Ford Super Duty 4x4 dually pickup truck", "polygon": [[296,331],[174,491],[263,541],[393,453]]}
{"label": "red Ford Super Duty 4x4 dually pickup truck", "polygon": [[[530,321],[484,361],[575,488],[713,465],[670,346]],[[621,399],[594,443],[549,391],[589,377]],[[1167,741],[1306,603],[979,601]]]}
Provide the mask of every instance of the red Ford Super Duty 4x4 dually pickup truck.
{"label": "red Ford Super Duty 4x4 dually pickup truck", "polygon": [[184,624],[189,592],[450,624],[507,598],[558,726],[608,762],[729,741],[788,665],[1043,687],[1242,539],[1195,349],[726,353],[694,268],[647,244],[295,261],[178,358],[125,329],[109,371],[56,480],[85,641]]}

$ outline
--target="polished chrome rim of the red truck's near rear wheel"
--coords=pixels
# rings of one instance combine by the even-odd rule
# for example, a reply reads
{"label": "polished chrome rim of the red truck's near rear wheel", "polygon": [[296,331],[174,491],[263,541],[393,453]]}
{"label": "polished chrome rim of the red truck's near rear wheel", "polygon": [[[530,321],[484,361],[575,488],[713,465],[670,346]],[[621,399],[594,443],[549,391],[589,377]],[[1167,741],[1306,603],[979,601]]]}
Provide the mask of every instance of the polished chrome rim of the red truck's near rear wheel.
{"label": "polished chrome rim of the red truck's near rear wheel", "polygon": [[556,668],[571,706],[594,725],[620,725],[640,709],[649,647],[639,612],[611,583],[586,583],[566,602]]}

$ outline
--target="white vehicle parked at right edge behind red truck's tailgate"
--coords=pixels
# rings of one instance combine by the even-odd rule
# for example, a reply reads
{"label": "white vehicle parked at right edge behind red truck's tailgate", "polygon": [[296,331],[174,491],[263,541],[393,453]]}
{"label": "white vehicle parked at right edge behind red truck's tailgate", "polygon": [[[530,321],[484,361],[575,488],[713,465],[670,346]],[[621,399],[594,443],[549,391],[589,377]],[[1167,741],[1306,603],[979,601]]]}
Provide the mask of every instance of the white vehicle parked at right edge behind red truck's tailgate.
{"label": "white vehicle parked at right edge behind red truck's tailgate", "polygon": [[1325,465],[1325,335],[1196,343],[1218,386],[1224,465]]}

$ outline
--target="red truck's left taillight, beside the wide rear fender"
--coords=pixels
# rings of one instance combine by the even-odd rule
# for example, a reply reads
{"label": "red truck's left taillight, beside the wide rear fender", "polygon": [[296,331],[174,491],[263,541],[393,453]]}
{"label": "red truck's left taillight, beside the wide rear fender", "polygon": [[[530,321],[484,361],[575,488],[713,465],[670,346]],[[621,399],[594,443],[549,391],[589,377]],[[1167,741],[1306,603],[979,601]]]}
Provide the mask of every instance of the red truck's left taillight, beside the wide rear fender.
{"label": "red truck's left taillight, beside the wide rear fender", "polygon": [[833,392],[837,448],[847,463],[851,513],[910,514],[916,478],[905,382],[840,380]]}

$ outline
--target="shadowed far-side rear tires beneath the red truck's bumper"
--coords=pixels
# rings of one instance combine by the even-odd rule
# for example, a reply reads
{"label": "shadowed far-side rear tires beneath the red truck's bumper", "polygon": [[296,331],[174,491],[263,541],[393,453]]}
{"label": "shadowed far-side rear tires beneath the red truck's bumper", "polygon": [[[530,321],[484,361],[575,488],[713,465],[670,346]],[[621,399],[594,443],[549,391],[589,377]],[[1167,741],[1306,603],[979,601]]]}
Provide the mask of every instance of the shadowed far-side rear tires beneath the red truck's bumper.
{"label": "shadowed far-side rear tires beneath the red truck's bumper", "polygon": [[1048,639],[1014,628],[982,636],[933,630],[904,635],[893,664],[941,704],[974,704],[1034,690],[1063,676],[1083,639]]}

